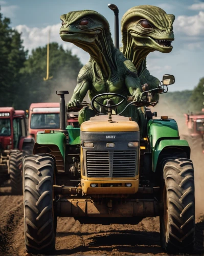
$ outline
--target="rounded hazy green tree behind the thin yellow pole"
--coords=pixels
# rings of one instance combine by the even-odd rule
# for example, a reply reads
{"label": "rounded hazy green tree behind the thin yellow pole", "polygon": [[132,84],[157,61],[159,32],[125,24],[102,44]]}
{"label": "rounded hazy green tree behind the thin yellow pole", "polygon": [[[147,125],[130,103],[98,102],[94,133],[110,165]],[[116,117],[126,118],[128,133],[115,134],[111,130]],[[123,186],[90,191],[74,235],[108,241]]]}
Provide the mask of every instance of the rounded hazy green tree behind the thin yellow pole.
{"label": "rounded hazy green tree behind the thin yellow pole", "polygon": [[[52,79],[43,80],[47,72],[47,46],[32,50],[31,55],[25,61],[25,66],[20,70],[22,95],[24,108],[33,102],[58,101],[56,90],[69,90],[71,93],[76,85],[76,79],[82,64],[76,55],[70,50],[64,50],[56,42],[50,44],[50,71]],[[71,88],[70,88],[71,87]]]}

